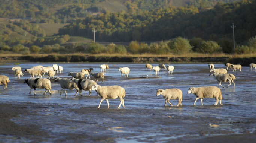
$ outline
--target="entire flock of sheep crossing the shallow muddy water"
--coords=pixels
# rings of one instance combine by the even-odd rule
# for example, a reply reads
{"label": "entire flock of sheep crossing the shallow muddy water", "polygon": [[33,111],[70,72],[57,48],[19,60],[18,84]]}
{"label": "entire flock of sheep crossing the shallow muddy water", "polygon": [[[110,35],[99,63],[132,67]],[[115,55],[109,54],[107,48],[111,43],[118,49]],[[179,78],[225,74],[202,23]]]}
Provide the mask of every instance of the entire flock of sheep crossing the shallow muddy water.
{"label": "entire flock of sheep crossing the shallow muddy water", "polygon": [[[229,82],[230,84],[228,85],[228,87],[231,85],[231,82],[233,83],[233,88],[235,88],[235,76],[233,74],[227,74],[227,70],[226,69],[214,69],[214,65],[213,64],[209,64],[209,69],[210,69],[210,75],[209,76],[214,76],[216,78],[216,80],[219,82],[219,86],[222,86],[221,83],[222,82]],[[236,71],[236,69],[242,69],[241,65],[234,65],[234,64],[226,64],[227,69],[231,68],[234,69]],[[146,64],[146,70],[154,70],[155,71],[155,75],[159,75],[159,71],[162,70],[162,68],[164,68],[164,70],[168,70],[168,74],[173,74],[173,70],[174,67],[171,65],[168,65],[167,68],[165,67],[164,64],[159,64],[158,66],[152,66],[151,64]],[[250,70],[252,70],[252,68],[255,68],[256,70],[256,64],[250,64],[249,65]],[[57,77],[54,79],[54,76],[57,73],[62,73],[63,71],[63,67],[62,66],[58,66],[57,64],[53,64],[52,66],[49,67],[43,67],[41,65],[39,66],[34,66],[31,69],[25,69],[24,72],[28,72],[30,74],[30,79],[25,79],[24,83],[27,83],[28,86],[30,87],[30,92],[31,90],[34,89],[35,94],[36,94],[36,88],[38,89],[45,89],[45,93],[46,94],[47,91],[49,91],[50,95],[51,95],[51,82],[50,82],[50,77],[52,76],[52,79],[54,79],[54,82],[58,82],[61,86],[61,92],[64,89],[65,90],[65,96],[67,96],[67,92],[66,89],[68,90],[73,90],[76,89],[76,94],[79,93],[80,96],[82,96],[82,90],[85,91],[89,91],[89,95],[91,95],[91,90],[95,90],[98,93],[98,96],[101,96],[101,102],[106,99],[107,104],[108,104],[108,108],[109,108],[109,102],[108,99],[116,99],[119,98],[120,99],[120,104],[118,106],[118,108],[122,105],[124,108],[124,97],[125,97],[125,89],[122,88],[121,86],[100,86],[97,85],[98,83],[98,79],[102,79],[103,83],[103,79],[104,79],[104,70],[106,71],[106,69],[109,69],[109,66],[107,64],[103,64],[100,65],[101,68],[101,72],[99,73],[92,73],[91,71],[93,71],[93,68],[90,69],[82,69],[81,72],[70,72],[68,73],[68,76],[72,76],[71,79],[66,79],[66,78],[60,78]],[[12,70],[15,73],[16,78],[20,76],[23,76],[24,74],[22,73],[21,67],[12,67]],[[103,72],[102,72],[103,70]],[[233,70],[233,72],[234,72]],[[120,67],[119,71],[121,71],[121,78],[123,77],[128,77],[128,74],[130,72],[130,69],[128,67]],[[43,76],[45,75],[45,73],[48,73],[48,79],[47,78],[42,78],[42,73]],[[127,74],[127,76],[125,76],[125,74]],[[86,76],[86,79],[83,79]],[[95,80],[97,80],[97,83],[95,82],[95,80],[89,80],[90,76],[93,76],[95,78]],[[33,76],[33,78],[32,78]],[[34,78],[34,76],[36,76],[36,78]],[[89,76],[89,79],[87,79],[87,77]],[[7,83],[9,83],[10,80],[7,76],[4,75],[0,75],[0,84],[4,84],[4,89],[7,88]],[[224,86],[222,86],[224,88]],[[227,88],[228,88],[227,87]],[[61,95],[60,92],[60,95]],[[221,101],[222,101],[222,94],[219,88],[215,87],[215,86],[206,86],[206,87],[191,87],[189,88],[188,92],[192,93],[196,96],[195,102],[193,105],[195,105],[196,100],[197,99],[201,99],[201,104],[202,104],[202,100],[203,98],[215,98],[216,99],[216,103],[214,105],[217,105],[218,102],[220,102],[220,105],[222,105]],[[173,106],[169,100],[178,100],[178,105],[182,105],[182,91],[180,89],[159,89],[156,93],[156,96],[162,95],[165,99],[165,106],[167,104],[167,102]],[[202,104],[203,105],[203,104]],[[98,108],[100,108],[100,105],[98,106]]]}

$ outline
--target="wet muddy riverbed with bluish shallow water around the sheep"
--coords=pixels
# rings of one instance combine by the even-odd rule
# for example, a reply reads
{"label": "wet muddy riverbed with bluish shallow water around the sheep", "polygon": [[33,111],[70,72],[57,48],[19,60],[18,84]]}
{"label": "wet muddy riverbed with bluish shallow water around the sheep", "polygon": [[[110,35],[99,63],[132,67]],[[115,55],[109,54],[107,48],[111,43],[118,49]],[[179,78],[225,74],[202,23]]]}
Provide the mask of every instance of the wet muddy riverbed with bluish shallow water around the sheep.
{"label": "wet muddy riverbed with bluish shallow water around the sheep", "polygon": [[[214,143],[256,142],[256,88],[255,71],[242,67],[242,72],[228,73],[236,77],[235,88],[222,83],[222,104],[214,106],[215,99],[200,100],[193,105],[195,95],[187,94],[190,87],[218,86],[209,77],[208,64],[172,64],[174,71],[145,71],[145,64],[109,63],[101,86],[119,85],[126,90],[125,108],[116,109],[119,99],[106,100],[97,109],[101,98],[92,91],[74,96],[75,90],[62,92],[58,83],[51,80],[52,95],[43,95],[45,89],[37,89],[37,95],[24,84],[29,78],[14,77],[14,63],[0,66],[0,74],[9,77],[8,89],[0,86],[0,140],[1,142],[102,142],[102,143]],[[36,65],[52,66],[53,63],[20,63],[24,71]],[[57,63],[63,66],[63,74],[55,77],[70,78],[68,73],[94,68],[100,72],[101,63]],[[156,66],[158,64],[152,64]],[[225,68],[223,64],[214,64]],[[131,69],[128,78],[121,78],[119,67]],[[139,77],[148,78],[139,78]],[[46,77],[46,76],[45,76]],[[91,77],[94,80],[93,77]],[[164,106],[158,89],[178,88],[183,92],[182,106]],[[177,100],[170,100],[177,105]],[[209,125],[211,124],[211,126]]]}

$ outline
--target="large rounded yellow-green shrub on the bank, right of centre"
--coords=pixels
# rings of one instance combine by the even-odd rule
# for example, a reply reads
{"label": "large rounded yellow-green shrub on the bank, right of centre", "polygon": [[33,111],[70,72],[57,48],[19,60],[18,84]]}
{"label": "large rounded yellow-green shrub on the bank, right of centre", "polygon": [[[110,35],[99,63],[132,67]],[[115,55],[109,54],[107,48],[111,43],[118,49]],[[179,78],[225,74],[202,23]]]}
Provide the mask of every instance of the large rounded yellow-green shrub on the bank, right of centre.
{"label": "large rounded yellow-green shrub on the bank, right of centre", "polygon": [[191,51],[192,46],[189,44],[187,38],[177,37],[168,42],[170,51],[175,54],[188,53]]}

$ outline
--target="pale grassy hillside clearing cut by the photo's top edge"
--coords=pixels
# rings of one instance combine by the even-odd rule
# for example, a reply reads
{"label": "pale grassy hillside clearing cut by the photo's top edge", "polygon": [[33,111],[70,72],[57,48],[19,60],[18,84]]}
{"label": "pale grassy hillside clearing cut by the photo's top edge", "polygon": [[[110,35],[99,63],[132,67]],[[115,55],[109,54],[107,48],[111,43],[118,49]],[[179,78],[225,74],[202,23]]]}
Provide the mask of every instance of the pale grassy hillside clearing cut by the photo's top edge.
{"label": "pale grassy hillside clearing cut by the photo's top edge", "polygon": [[127,7],[123,5],[123,2],[124,0],[115,0],[112,2],[103,2],[97,5],[109,12],[121,12],[122,10],[127,10]]}

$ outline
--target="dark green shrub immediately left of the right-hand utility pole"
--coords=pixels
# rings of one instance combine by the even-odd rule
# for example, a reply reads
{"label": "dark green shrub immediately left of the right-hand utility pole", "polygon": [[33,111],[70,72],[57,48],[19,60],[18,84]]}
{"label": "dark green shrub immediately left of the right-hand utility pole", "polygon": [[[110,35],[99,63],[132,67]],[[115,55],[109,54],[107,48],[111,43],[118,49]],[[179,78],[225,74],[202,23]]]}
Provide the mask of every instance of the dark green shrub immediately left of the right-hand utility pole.
{"label": "dark green shrub immediately left of the right-hand utility pole", "polygon": [[[234,44],[233,40],[230,38],[221,38],[218,41],[218,45],[222,48],[224,53],[234,53]],[[236,47],[236,46],[235,46]]]}

